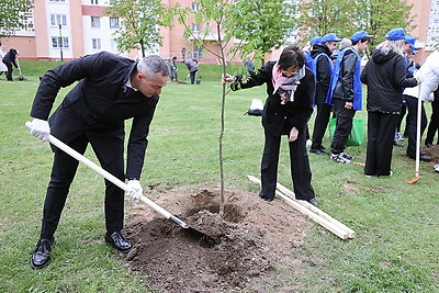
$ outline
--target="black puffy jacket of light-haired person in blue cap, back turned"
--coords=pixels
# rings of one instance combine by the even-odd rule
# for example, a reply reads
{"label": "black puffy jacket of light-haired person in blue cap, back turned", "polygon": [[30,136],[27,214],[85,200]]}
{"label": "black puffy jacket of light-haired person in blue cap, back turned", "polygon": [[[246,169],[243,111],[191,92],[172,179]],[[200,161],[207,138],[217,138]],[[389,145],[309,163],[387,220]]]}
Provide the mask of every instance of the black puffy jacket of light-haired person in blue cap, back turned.
{"label": "black puffy jacket of light-haired person in blue cap, back turned", "polygon": [[385,54],[375,49],[361,72],[361,82],[368,84],[368,111],[399,113],[403,88],[417,84],[406,77],[406,63],[402,55],[391,50]]}

